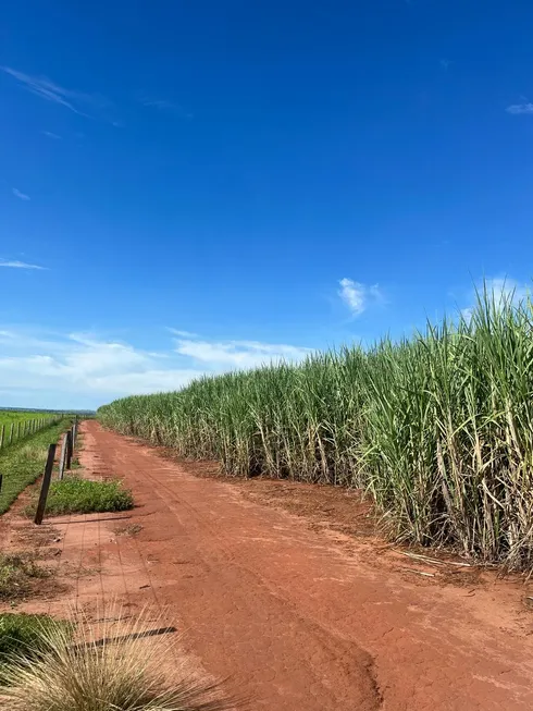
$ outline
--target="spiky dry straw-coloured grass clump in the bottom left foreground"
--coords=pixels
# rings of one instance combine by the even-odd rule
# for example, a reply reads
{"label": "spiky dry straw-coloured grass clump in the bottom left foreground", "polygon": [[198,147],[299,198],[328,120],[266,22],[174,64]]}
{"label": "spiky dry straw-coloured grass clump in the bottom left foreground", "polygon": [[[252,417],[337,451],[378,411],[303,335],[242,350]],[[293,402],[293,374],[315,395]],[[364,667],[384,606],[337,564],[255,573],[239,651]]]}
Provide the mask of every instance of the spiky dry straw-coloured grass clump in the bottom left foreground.
{"label": "spiky dry straw-coloured grass clump in the bottom left foreground", "polygon": [[[13,657],[0,708],[12,711],[223,711],[234,708],[215,684],[186,670],[172,637],[147,636],[135,620],[95,627],[84,618],[76,641],[61,626],[42,629],[45,645]],[[175,661],[174,661],[175,660]],[[166,669],[165,669],[166,667]]]}

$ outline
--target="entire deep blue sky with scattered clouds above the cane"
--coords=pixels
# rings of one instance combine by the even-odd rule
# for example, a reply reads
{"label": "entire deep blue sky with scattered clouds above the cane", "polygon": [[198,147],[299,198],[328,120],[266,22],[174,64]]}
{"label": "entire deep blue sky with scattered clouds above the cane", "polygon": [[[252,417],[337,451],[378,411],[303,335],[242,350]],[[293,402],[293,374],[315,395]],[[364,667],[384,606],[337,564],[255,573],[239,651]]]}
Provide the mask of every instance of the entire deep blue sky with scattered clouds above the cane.
{"label": "entire deep blue sky with scattered clouds above the cane", "polygon": [[[77,7],[80,5],[80,7]],[[0,404],[94,407],[526,289],[525,0],[21,0]]]}

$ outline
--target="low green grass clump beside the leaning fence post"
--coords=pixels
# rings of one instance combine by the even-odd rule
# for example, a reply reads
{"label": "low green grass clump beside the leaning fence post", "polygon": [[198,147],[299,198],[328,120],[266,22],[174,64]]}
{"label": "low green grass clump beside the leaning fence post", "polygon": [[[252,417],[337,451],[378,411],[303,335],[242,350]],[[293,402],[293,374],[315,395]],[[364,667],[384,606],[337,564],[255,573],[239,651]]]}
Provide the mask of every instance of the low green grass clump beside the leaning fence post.
{"label": "low green grass clump beside the leaning fence post", "polygon": [[[51,482],[46,515],[127,511],[133,505],[132,492],[124,489],[120,481],[91,481],[67,476],[61,481]],[[35,504],[29,506],[27,513],[35,513]]]}

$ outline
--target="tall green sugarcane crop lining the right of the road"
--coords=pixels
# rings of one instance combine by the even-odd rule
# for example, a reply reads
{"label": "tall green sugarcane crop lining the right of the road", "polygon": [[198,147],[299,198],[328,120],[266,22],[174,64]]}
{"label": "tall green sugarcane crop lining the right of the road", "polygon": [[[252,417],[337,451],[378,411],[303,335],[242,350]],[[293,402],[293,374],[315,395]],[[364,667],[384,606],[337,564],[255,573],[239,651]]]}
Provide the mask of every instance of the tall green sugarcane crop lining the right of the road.
{"label": "tall green sugarcane crop lining the right of the road", "polygon": [[203,378],[100,408],[119,432],[265,475],[370,493],[392,534],[533,568],[533,306],[372,347]]}

